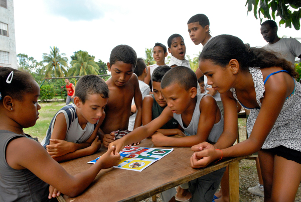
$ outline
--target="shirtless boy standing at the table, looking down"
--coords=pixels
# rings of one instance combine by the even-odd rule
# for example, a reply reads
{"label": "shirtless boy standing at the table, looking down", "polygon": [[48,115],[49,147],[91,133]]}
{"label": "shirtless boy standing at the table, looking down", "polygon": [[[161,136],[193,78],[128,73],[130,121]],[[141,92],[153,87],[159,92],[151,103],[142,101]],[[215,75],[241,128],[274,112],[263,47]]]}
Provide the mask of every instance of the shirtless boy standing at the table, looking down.
{"label": "shirtless boy standing at the table, looking down", "polygon": [[101,139],[107,147],[109,143],[128,134],[128,120],[131,115],[131,102],[137,108],[134,129],[142,124],[142,95],[136,74],[136,52],[127,45],[113,48],[110,62],[107,63],[112,77],[106,81],[109,88],[109,100],[106,105],[106,117],[101,125]]}

